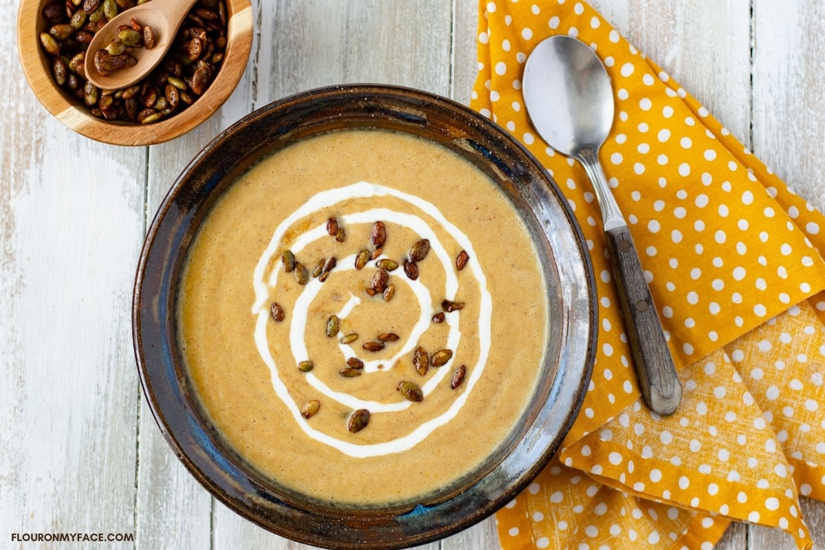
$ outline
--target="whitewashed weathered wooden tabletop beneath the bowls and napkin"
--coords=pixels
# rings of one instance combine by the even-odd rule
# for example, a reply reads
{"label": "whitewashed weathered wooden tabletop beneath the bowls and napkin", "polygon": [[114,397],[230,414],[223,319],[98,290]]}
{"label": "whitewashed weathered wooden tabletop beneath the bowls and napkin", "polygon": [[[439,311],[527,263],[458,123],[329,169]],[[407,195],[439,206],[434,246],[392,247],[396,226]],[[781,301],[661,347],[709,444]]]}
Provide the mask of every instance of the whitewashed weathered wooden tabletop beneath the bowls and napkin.
{"label": "whitewashed weathered wooden tabletop beneath the bowls and napkin", "polygon": [[[524,0],[526,1],[526,0]],[[535,0],[555,2],[556,0]],[[596,0],[648,57],[825,209],[821,0]],[[247,72],[181,139],[121,148],[73,134],[35,100],[0,0],[0,547],[12,534],[133,534],[92,548],[306,548],[258,529],[190,477],[139,390],[130,305],[144,233],[188,160],[221,129],[293,92],[389,82],[464,103],[476,0],[257,0]],[[825,548],[825,505],[804,501]],[[430,550],[497,548],[493,519]],[[794,548],[734,525],[724,550]]]}

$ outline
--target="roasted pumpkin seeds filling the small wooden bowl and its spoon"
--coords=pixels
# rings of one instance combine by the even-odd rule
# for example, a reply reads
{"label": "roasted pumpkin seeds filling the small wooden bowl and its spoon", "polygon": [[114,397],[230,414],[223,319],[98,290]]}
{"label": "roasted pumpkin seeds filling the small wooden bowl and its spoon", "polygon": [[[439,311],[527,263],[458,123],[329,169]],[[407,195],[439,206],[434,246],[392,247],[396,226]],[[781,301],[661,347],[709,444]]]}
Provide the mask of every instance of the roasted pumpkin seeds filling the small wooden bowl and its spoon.
{"label": "roasted pumpkin seeds filling the small wooden bowl and its spoon", "polygon": [[[229,14],[225,0],[200,0],[187,14],[172,48],[147,78],[120,90],[101,90],[87,82],[86,55],[97,31],[125,9],[150,0],[58,0],[45,5],[42,15],[45,32],[40,45],[48,55],[52,77],[59,87],[73,96],[90,114],[104,120],[151,124],[185,110],[206,92],[217,75],[227,44]],[[139,26],[139,23],[135,23]],[[132,31],[137,29],[132,26]],[[129,43],[135,35],[127,29],[121,34]],[[151,47],[153,31],[140,26],[140,44]],[[111,53],[99,54],[99,69],[116,70],[134,63],[121,45],[111,45]],[[121,46],[124,48],[120,51]],[[108,57],[106,57],[108,56]]]}

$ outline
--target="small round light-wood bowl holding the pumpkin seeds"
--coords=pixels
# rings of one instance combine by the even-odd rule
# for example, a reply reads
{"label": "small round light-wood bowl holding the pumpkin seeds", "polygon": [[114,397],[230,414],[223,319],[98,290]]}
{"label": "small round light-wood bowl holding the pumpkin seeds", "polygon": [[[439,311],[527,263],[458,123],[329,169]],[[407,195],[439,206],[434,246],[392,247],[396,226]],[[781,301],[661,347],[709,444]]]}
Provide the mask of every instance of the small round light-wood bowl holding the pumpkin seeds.
{"label": "small round light-wood bowl holding the pumpkin seeds", "polygon": [[40,103],[78,134],[114,145],[149,145],[177,138],[208,119],[229,98],[247,66],[252,49],[250,0],[226,0],[229,29],[224,61],[210,87],[177,115],[148,125],[109,121],[92,116],[74,96],[54,82],[50,61],[40,46],[47,31],[43,8],[54,0],[22,0],[17,12],[17,51],[26,80]]}

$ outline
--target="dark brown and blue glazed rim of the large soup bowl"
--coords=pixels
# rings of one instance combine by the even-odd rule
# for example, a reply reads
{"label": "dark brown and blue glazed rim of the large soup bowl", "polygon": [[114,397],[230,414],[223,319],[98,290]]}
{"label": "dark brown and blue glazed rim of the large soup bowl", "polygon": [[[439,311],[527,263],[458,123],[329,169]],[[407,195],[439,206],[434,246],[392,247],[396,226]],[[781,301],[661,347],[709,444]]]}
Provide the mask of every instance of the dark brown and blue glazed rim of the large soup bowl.
{"label": "dark brown and blue glazed rim of the large soup bowl", "polygon": [[[248,467],[200,412],[175,339],[177,278],[200,220],[259,158],[295,140],[352,128],[431,139],[487,173],[520,212],[548,283],[544,377],[513,434],[477,475],[433,498],[385,508],[324,504]],[[572,209],[544,167],[505,129],[466,106],[404,87],[325,87],[255,110],[184,169],[148,229],[133,302],[134,351],[149,407],[168,444],[219,501],[273,533],[324,548],[407,548],[478,523],[506,505],[559,449],[581,407],[596,349],[595,278]]]}

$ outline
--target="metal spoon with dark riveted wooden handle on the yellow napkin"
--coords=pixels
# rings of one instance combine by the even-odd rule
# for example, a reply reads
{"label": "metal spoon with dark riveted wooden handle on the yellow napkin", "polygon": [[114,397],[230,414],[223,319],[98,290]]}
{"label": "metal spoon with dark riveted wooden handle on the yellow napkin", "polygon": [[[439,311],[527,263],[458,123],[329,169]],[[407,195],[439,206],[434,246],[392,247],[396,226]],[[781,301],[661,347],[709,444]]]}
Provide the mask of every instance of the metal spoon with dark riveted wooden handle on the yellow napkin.
{"label": "metal spoon with dark riveted wooden handle on the yellow napkin", "polygon": [[592,49],[558,35],[530,54],[522,87],[535,129],[550,147],[581,162],[592,181],[642,395],[653,411],[670,415],[681,401],[681,385],[639,254],[599,163],[613,125],[610,77]]}

